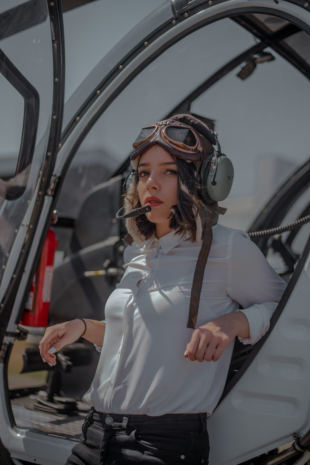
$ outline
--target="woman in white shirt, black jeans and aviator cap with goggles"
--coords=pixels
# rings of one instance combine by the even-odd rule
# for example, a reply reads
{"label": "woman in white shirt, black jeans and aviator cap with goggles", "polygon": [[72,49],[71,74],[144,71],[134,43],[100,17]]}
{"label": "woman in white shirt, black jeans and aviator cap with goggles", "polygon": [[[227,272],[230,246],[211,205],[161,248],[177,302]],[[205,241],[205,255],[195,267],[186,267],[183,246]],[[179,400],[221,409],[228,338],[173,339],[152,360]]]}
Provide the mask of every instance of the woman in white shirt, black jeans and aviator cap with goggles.
{"label": "woman in white shirt, black jeans and aviator cap with goggles", "polygon": [[[207,416],[223,391],[234,339],[260,339],[285,288],[246,233],[216,224],[217,204],[197,185],[214,141],[189,115],[142,130],[125,209],[151,211],[126,220],[135,242],[125,249],[106,323],[76,319],[46,329],[40,352],[52,365],[54,352],[80,336],[102,346],[84,395],[92,407],[67,464],[208,462]],[[203,234],[213,239],[191,326]]]}

